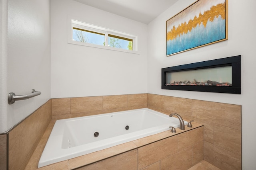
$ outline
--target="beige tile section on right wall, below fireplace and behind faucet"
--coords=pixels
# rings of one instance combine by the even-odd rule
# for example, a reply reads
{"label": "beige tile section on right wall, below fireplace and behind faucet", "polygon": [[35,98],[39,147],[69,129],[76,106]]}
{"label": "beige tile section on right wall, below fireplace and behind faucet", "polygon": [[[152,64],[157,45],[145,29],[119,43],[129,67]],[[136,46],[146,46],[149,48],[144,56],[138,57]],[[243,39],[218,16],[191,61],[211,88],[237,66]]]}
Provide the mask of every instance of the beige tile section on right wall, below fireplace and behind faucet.
{"label": "beige tile section on right wall, below fireplace and behind faucet", "polygon": [[240,105],[148,94],[148,108],[204,125],[204,160],[222,170],[241,169]]}

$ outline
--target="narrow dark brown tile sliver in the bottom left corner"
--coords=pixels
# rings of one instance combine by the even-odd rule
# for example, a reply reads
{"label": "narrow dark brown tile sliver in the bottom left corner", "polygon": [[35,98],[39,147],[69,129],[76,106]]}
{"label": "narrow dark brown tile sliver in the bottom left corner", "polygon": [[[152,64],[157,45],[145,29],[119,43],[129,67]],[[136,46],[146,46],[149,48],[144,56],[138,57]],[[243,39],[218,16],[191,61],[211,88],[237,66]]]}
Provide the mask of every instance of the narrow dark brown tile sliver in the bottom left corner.
{"label": "narrow dark brown tile sliver in the bottom left corner", "polygon": [[0,170],[7,169],[7,135],[0,135]]}

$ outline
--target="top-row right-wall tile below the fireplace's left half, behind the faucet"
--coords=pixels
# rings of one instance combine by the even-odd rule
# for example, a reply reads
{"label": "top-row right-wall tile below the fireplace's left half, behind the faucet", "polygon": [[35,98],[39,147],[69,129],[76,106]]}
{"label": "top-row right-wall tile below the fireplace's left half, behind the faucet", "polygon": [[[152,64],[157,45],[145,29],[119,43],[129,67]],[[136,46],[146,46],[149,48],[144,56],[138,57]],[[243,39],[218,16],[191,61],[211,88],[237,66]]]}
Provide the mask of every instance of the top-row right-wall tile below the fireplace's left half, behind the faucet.
{"label": "top-row right-wall tile below the fireplace's left half, behind the faucet", "polygon": [[170,112],[192,116],[192,100],[164,96],[164,109]]}

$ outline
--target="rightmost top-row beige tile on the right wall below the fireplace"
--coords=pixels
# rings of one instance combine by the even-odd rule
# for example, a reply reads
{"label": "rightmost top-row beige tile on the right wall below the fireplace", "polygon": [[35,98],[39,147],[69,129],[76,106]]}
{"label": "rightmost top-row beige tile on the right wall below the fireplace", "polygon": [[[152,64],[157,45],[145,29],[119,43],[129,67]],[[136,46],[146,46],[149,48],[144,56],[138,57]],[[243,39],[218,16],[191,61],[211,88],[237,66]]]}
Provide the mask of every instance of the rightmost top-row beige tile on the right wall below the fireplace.
{"label": "rightmost top-row beige tile on the right wall below the fireplace", "polygon": [[193,100],[192,109],[193,117],[237,130],[241,129],[240,105]]}

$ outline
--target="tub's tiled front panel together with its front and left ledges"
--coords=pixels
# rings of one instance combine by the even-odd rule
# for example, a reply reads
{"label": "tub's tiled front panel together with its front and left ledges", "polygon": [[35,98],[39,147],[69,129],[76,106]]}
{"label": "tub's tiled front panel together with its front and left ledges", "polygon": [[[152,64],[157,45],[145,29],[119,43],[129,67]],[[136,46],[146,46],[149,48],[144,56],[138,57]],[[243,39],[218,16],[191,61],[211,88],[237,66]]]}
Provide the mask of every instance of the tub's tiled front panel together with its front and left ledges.
{"label": "tub's tiled front panel together with its front and left ledges", "polygon": [[[54,126],[55,120],[49,124],[46,132],[25,170],[36,170],[38,161]],[[144,168],[187,170],[203,160],[203,126],[193,123],[193,127],[185,130],[176,128],[177,133],[170,130],[144,137],[135,141],[117,145],[108,149],[86,154],[38,170],[80,170],[111,169],[140,170]],[[84,166],[87,165],[87,166]],[[80,168],[79,168],[80,167]]]}

